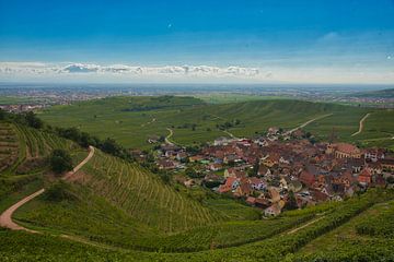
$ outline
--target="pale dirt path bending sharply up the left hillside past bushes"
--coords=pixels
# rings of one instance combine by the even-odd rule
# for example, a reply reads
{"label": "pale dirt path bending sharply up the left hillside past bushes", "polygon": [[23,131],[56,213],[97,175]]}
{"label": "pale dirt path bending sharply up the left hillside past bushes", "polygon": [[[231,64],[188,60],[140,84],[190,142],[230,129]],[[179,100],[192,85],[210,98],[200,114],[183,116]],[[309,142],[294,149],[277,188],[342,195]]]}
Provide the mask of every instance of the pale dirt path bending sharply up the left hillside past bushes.
{"label": "pale dirt path bending sharply up the left hillside past bushes", "polygon": [[[72,169],[72,171],[69,171],[63,178],[62,180],[66,180],[68,178],[70,178],[72,175],[74,175],[79,169],[81,169],[81,167],[86,164],[93,156],[94,154],[94,147],[93,146],[89,146],[89,155],[86,156],[86,158],[84,158],[78,166],[74,167],[74,169]],[[22,205],[24,205],[25,203],[27,203],[28,201],[33,200],[34,198],[40,195],[42,193],[45,192],[45,189],[40,189],[38,191],[36,191],[35,193],[32,193],[31,195],[27,195],[26,198],[20,200],[19,202],[16,202],[15,204],[13,204],[12,206],[10,206],[8,210],[5,210],[1,215],[0,215],[0,226],[1,227],[5,227],[12,230],[25,230],[28,233],[38,233],[28,228],[25,228],[23,226],[18,225],[16,223],[14,223],[12,221],[12,215],[13,213],[21,207]]]}

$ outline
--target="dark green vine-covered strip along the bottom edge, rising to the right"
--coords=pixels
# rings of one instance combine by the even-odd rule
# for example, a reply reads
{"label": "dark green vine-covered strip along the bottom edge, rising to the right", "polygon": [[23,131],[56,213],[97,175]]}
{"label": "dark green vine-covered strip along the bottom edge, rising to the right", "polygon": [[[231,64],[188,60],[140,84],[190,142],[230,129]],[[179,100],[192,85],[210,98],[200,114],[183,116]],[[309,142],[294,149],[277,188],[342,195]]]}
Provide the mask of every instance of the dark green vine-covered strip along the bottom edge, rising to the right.
{"label": "dark green vine-covered strip along the bottom edge, rising to the right", "polygon": [[[250,243],[200,252],[141,252],[48,235],[0,230],[0,258],[12,261],[390,261],[394,246],[387,230],[385,237],[381,237],[380,234],[366,235],[360,228],[376,227],[384,222],[381,228],[386,225],[391,234],[392,227],[386,224],[391,219],[386,217],[393,212],[393,196],[392,191],[371,190],[329,209],[309,207],[302,212],[316,217],[301,226]],[[351,229],[355,227],[356,230]],[[228,239],[231,237],[234,238]]]}

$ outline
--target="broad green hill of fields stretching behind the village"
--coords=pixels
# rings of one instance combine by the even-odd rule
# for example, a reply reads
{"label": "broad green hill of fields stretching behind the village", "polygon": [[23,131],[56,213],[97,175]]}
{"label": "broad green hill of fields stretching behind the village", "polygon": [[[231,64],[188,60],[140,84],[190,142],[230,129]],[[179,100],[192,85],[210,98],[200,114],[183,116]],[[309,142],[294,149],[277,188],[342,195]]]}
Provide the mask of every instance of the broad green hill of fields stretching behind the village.
{"label": "broad green hill of fields stretching behind the village", "polygon": [[[146,106],[141,106],[143,103]],[[351,136],[368,112],[371,115],[362,132]],[[212,105],[192,97],[111,97],[71,106],[55,106],[42,111],[40,117],[50,124],[78,127],[100,138],[114,138],[124,146],[136,148],[152,147],[148,138],[166,136],[167,128],[173,130],[172,141],[193,145],[230,134],[255,136],[269,127],[292,129],[322,117],[305,127],[320,140],[327,140],[334,131],[340,141],[394,148],[393,110],[291,99]],[[218,128],[227,122],[231,123],[227,128],[230,134]]]}

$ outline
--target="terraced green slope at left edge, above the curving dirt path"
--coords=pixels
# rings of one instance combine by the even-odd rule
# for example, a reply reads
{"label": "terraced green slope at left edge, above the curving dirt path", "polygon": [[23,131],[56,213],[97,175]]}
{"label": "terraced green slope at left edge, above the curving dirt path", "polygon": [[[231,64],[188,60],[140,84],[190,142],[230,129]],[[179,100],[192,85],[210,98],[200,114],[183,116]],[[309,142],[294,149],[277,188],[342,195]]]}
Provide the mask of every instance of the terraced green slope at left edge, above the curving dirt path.
{"label": "terraced green slope at left edge, above the curving dirt path", "polygon": [[71,141],[11,122],[0,122],[0,211],[44,184],[54,148],[68,150],[74,163],[86,155]]}

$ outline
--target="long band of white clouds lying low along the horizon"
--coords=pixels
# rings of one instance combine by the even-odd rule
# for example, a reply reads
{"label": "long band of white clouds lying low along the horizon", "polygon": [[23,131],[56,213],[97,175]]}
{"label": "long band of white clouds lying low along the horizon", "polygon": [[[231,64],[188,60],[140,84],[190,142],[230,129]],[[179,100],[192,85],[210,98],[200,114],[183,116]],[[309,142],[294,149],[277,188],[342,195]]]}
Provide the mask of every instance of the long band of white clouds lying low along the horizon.
{"label": "long band of white clouds lying low along the horizon", "polygon": [[143,67],[80,62],[0,62],[0,81],[393,84],[394,71],[364,67]]}

